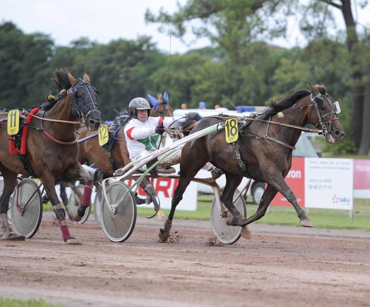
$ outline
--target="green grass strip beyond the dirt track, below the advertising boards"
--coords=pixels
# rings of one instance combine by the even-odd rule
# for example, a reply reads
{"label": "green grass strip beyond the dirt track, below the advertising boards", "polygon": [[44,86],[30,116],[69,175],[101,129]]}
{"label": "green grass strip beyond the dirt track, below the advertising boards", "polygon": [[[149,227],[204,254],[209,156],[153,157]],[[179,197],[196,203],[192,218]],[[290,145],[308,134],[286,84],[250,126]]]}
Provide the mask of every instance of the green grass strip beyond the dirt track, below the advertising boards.
{"label": "green grass strip beyond the dirt track, below the advertising boards", "polygon": [[[212,205],[212,195],[199,194],[196,211],[181,211],[175,213],[175,218],[181,220],[209,220]],[[252,204],[251,197],[247,199],[247,215],[250,216],[257,210],[257,205]],[[292,225],[299,226],[299,219],[293,206],[280,207],[271,206],[271,212],[266,213],[263,218],[254,222],[261,224]],[[168,215],[169,210],[164,209]],[[138,207],[138,215],[150,216],[153,214],[151,208]],[[347,210],[310,209],[309,218],[314,227],[333,229],[357,229],[370,231],[370,200],[354,200],[354,218],[349,218]]]}

